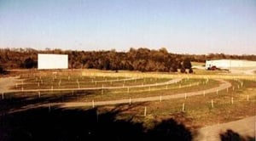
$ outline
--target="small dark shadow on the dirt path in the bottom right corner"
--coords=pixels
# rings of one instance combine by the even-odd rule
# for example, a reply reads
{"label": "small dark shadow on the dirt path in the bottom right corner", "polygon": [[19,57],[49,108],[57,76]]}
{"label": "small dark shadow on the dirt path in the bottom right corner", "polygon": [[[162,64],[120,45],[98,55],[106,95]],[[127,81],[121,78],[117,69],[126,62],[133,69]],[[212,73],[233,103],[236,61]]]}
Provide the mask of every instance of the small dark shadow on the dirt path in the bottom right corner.
{"label": "small dark shadow on the dirt path in the bottom right corner", "polygon": [[219,134],[221,141],[255,141],[253,137],[242,137],[239,133],[236,133],[228,129],[225,133]]}

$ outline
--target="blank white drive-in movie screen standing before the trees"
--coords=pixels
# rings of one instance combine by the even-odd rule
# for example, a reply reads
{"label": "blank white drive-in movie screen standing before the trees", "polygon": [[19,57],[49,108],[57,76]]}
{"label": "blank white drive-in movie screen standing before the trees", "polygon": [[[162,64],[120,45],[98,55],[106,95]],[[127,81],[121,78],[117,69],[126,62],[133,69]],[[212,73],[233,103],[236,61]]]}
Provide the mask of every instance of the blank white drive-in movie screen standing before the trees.
{"label": "blank white drive-in movie screen standing before the trees", "polygon": [[67,68],[67,54],[38,54],[38,70]]}

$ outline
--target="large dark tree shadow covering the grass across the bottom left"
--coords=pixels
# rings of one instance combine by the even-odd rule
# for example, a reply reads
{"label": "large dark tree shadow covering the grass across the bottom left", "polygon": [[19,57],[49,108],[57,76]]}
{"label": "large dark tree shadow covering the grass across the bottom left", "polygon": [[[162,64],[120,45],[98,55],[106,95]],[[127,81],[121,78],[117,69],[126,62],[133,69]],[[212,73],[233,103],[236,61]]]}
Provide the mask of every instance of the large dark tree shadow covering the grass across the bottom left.
{"label": "large dark tree shadow covering the grass across the bottom left", "polygon": [[143,123],[117,120],[120,110],[40,108],[1,116],[0,140],[192,140],[183,124],[173,119],[146,130]]}

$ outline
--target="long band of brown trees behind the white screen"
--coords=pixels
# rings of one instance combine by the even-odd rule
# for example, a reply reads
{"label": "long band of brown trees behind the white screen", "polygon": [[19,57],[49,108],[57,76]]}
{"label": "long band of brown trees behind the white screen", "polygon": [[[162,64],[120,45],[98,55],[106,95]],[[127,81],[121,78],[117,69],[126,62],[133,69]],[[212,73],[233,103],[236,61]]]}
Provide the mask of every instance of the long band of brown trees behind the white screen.
{"label": "long band of brown trees behind the white screen", "polygon": [[1,48],[0,65],[5,69],[36,68],[38,54],[68,54],[70,69],[93,68],[100,70],[167,71],[193,72],[190,61],[205,62],[206,59],[248,59],[256,60],[255,55],[227,54],[171,54],[166,48],[150,50],[131,48],[128,52],[73,51],[61,49],[36,50],[33,48]]}

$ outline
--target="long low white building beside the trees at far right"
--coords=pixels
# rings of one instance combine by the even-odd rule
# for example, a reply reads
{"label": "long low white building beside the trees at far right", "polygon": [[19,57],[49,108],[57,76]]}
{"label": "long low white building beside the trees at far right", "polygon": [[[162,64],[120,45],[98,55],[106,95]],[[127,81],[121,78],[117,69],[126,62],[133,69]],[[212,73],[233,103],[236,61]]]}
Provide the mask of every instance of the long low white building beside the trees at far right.
{"label": "long low white building beside the trees at far right", "polygon": [[256,61],[239,59],[217,59],[207,60],[206,69],[216,66],[220,69],[256,67]]}

